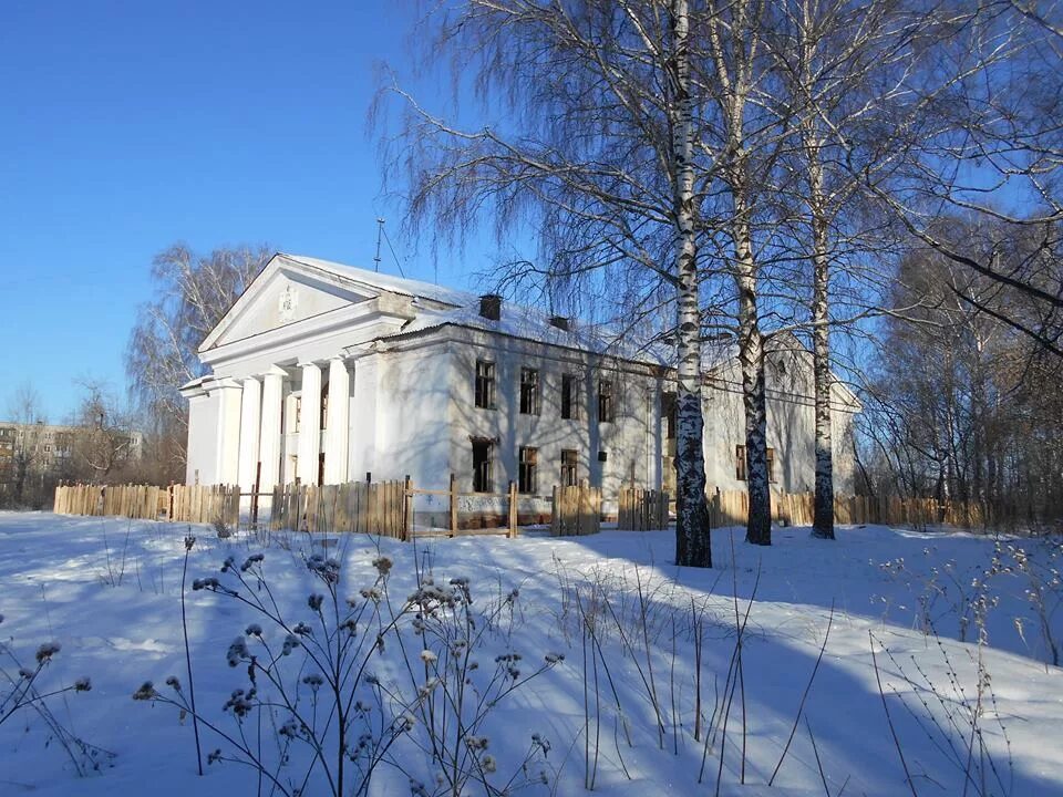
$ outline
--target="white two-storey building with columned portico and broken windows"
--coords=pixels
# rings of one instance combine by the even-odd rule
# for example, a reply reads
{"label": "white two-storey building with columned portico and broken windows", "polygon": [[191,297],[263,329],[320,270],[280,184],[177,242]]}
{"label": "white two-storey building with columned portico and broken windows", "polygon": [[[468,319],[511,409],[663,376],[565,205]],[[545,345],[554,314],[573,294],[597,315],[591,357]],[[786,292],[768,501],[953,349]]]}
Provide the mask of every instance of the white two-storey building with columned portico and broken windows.
{"label": "white two-storey building with columned portico and broken windows", "polygon": [[[706,373],[710,485],[737,489],[741,389],[729,349]],[[600,334],[496,297],[306,257],[276,255],[199,349],[211,374],[189,382],[188,483],[269,491],[410,475],[463,491],[549,495],[588,479],[673,482],[671,370]],[[811,355],[768,360],[774,486],[812,489]],[[836,391],[836,488],[852,491],[848,429],[858,410]]]}

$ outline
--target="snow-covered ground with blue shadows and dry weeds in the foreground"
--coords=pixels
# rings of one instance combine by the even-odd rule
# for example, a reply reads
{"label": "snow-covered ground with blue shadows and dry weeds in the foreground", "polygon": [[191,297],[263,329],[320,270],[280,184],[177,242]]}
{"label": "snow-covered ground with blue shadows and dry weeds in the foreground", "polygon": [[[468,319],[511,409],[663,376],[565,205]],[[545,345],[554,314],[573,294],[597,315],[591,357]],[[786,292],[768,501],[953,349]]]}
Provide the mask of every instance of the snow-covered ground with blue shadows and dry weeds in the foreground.
{"label": "snow-covered ground with blue shadows and dry weeds in the foreground", "polygon": [[[236,703],[249,708],[242,724],[231,702],[224,710],[234,690],[249,687],[248,661],[234,641],[242,640],[261,664],[260,640],[244,635],[249,624],[261,625],[275,653],[287,631],[192,582],[217,578],[261,600],[288,630],[299,621],[311,625],[276,672],[310,724],[328,723],[322,755],[334,773],[328,689],[316,691],[318,671],[305,653],[336,627],[328,596],[328,558],[334,558],[340,622],[352,611],[347,598],[361,612],[348,683],[369,707],[368,720],[352,718],[352,734],[367,734],[362,754],[376,751],[381,759],[370,795],[442,789],[432,739],[453,737],[453,711],[443,703],[466,680],[466,738],[447,747],[461,760],[443,780],[464,782],[467,794],[491,794],[486,782],[498,789],[509,783],[522,794],[575,795],[591,780],[603,795],[713,794],[719,778],[719,794],[757,797],[1063,795],[1063,682],[1061,670],[1046,664],[1050,643],[1063,640],[1059,539],[867,527],[840,529],[837,541],[825,542],[792,528],[776,530],[775,545],[761,549],[724,529],[713,532],[716,567],[691,570],[670,565],[668,532],[415,546],[344,536],[322,545],[306,535],[219,540],[206,526],[13,513],[0,513],[0,641],[23,665],[39,644],[61,644],[35,684],[41,691],[91,679],[91,691],[64,692],[47,706],[56,726],[93,746],[101,767],[79,777],[73,760],[84,766],[84,753],[74,745],[68,754],[47,720],[22,708],[0,724],[0,795],[282,793],[231,760],[233,744],[202,724],[204,757],[219,749],[223,760],[205,762],[200,779],[190,716],[158,700],[132,698],[145,681],[174,697],[165,685],[171,675],[187,692],[180,582],[189,534],[196,542],[187,629],[199,714],[234,739],[242,732],[289,793],[303,783],[306,795],[331,790],[322,766],[305,779],[311,756],[299,728],[285,726],[289,713],[254,707],[258,700],[279,702],[278,687],[259,670],[258,692]],[[256,553],[262,561],[248,562]],[[234,567],[221,573],[228,557]],[[393,561],[386,579],[381,557]],[[401,613],[419,589],[417,572],[420,609],[431,612],[421,619]],[[247,586],[236,583],[237,573]],[[320,617],[308,601],[314,593],[324,598]],[[456,622],[466,608],[475,625]],[[458,638],[471,641],[468,656]],[[369,643],[358,648],[362,640]],[[0,666],[17,677],[3,650]],[[522,659],[498,659],[513,652]],[[736,659],[741,667],[732,666]],[[0,683],[0,700],[10,691]],[[291,736],[287,748],[278,747],[278,738]],[[384,739],[393,739],[386,751]],[[285,766],[279,755],[288,756]],[[357,788],[365,760],[347,764],[345,793]]]}

